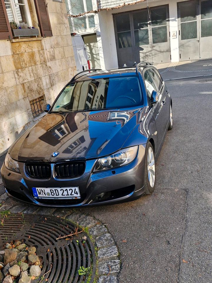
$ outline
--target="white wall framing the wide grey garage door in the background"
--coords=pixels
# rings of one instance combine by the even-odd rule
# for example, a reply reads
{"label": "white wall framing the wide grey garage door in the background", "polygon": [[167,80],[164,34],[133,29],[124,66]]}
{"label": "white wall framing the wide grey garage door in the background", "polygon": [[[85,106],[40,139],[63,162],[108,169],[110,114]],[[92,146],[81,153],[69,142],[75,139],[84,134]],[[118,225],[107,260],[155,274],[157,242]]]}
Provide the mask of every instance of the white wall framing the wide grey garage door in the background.
{"label": "white wall framing the wide grey garage door in the background", "polygon": [[[177,2],[180,1],[183,0],[148,1],[149,7],[160,6],[165,4],[169,5],[170,34],[172,34],[172,32],[177,31],[177,38],[170,37],[171,62],[179,61]],[[119,2],[120,4],[124,3],[124,1],[119,1]],[[147,1],[140,2],[135,5],[125,6],[120,9],[113,9],[109,11],[103,10],[98,13],[99,25],[97,26],[97,29],[100,34],[100,37],[98,39],[98,46],[99,46],[100,54],[102,54],[102,56],[100,56],[101,68],[104,68],[104,66],[106,69],[118,67],[114,23],[113,23],[112,15],[116,13],[133,11],[144,8],[147,8]]]}

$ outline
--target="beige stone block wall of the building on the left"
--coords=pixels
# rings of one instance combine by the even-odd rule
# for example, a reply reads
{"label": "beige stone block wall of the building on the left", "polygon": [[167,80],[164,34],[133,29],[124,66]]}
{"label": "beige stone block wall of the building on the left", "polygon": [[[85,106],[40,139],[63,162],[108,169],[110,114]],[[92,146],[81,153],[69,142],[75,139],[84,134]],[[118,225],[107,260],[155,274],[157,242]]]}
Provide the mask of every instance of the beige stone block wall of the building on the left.
{"label": "beige stone block wall of the building on the left", "polygon": [[[29,101],[45,96],[52,104],[76,73],[67,11],[47,0],[52,37],[0,40],[0,154],[42,117],[33,117]],[[32,22],[37,15],[28,0]]]}

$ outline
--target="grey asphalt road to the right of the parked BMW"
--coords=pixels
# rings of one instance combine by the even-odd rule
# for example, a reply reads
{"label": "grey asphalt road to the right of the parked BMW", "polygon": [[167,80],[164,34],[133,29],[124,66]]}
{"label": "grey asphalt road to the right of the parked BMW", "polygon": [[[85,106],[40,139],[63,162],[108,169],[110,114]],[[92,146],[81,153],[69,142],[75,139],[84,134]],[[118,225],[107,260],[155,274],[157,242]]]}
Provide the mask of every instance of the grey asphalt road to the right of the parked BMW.
{"label": "grey asphalt road to the right of the parked BMW", "polygon": [[212,78],[167,85],[174,126],[157,162],[153,195],[79,209],[113,235],[122,260],[120,283],[212,282]]}

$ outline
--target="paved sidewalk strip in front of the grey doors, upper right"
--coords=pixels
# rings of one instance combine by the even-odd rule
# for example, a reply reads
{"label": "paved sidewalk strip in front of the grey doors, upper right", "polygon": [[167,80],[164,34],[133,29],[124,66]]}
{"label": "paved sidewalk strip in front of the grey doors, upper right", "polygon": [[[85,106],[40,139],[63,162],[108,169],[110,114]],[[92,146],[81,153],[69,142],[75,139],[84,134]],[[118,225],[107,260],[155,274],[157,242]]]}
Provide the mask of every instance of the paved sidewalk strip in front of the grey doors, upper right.
{"label": "paved sidewalk strip in front of the grey doors, upper right", "polygon": [[212,75],[212,59],[155,64],[163,80]]}

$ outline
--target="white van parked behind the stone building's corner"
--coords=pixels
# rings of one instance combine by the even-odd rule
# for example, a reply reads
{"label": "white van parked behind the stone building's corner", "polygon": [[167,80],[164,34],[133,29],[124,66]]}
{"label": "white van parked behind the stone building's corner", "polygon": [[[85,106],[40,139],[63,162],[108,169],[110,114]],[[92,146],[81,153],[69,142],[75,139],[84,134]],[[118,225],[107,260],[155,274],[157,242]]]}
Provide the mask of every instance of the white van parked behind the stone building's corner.
{"label": "white van parked behind the stone building's corner", "polygon": [[85,47],[85,43],[82,40],[81,35],[76,34],[74,32],[71,34],[71,37],[72,37],[72,45],[74,49],[74,57],[76,61],[77,72],[89,70],[90,62],[89,62],[87,50]]}

